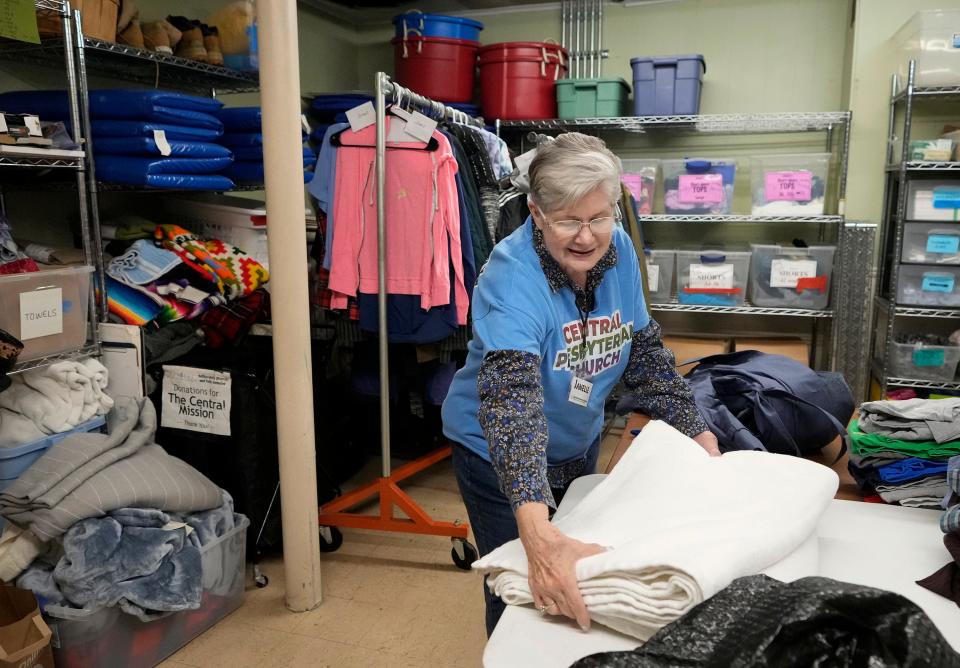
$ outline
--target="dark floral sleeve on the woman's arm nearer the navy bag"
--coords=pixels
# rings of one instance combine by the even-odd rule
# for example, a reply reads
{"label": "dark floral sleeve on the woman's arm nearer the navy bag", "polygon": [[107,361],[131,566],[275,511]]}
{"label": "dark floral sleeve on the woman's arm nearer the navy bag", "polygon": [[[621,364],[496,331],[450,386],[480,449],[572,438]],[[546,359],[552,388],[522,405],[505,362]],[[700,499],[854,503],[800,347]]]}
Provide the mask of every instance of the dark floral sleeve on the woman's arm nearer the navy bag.
{"label": "dark floral sleeve on the woman's arm nearer the navy bag", "polygon": [[673,353],[663,347],[660,325],[651,319],[633,335],[630,360],[623,374],[629,392],[620,399],[617,411],[642,411],[691,437],[707,431],[693,392],[675,366]]}

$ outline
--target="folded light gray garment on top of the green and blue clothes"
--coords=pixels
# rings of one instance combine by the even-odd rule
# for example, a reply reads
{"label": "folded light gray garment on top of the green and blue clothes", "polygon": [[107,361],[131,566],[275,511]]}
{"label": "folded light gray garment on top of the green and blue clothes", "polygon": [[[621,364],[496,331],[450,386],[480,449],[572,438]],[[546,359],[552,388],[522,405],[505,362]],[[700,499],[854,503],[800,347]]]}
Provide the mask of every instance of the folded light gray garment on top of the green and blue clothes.
{"label": "folded light gray garment on top of the green and blue clothes", "polygon": [[860,430],[901,441],[960,439],[960,397],[868,401],[860,406]]}

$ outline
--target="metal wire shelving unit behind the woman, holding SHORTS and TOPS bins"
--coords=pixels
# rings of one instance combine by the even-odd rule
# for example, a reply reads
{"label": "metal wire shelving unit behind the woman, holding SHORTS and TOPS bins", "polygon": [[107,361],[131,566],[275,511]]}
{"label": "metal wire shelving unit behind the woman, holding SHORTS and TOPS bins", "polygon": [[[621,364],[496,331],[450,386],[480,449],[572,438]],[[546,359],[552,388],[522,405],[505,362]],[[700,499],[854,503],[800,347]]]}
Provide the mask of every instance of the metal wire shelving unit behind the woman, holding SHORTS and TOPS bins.
{"label": "metal wire shelving unit behind the woman, holding SHORTS and TOPS bins", "polygon": [[[876,225],[848,222],[843,216],[847,183],[847,158],[850,144],[851,114],[848,111],[782,112],[742,114],[701,114],[696,116],[627,116],[617,118],[543,119],[530,121],[497,121],[498,132],[519,139],[521,147],[526,132],[559,133],[579,131],[588,134],[608,132],[633,133],[656,137],[690,135],[776,135],[790,133],[822,133],[826,151],[833,154],[838,169],[838,215],[823,216],[752,216],[752,215],[646,215],[639,216],[643,225],[672,224],[756,224],[810,225],[820,239],[837,240],[834,260],[831,307],[823,311],[792,308],[760,308],[745,304],[737,307],[651,304],[656,312],[729,314],[737,316],[786,316],[810,320],[814,342],[821,330],[830,336],[825,348],[828,360],[816,360],[817,366],[840,371],[847,378],[857,398],[866,391],[869,379],[869,317],[864,315],[873,294],[873,247]],[[662,141],[658,146],[662,145]],[[919,168],[919,166],[918,166]],[[835,235],[835,236],[834,236]]]}

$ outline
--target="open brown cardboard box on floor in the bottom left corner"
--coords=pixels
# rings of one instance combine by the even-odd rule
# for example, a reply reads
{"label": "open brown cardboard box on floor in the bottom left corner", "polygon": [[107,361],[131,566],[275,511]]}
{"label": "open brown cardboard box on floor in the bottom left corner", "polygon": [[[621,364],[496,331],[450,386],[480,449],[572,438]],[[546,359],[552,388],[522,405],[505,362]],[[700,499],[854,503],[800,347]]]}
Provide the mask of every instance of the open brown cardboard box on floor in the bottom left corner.
{"label": "open brown cardboard box on floor in the bottom left corner", "polygon": [[52,668],[50,636],[33,592],[0,587],[0,668]]}

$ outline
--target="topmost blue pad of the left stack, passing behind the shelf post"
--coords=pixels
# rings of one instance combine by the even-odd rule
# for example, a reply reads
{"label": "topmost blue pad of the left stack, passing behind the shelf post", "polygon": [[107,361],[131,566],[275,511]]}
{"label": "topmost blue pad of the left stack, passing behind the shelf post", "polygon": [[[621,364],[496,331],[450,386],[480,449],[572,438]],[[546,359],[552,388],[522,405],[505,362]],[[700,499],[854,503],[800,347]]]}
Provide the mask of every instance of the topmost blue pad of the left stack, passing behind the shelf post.
{"label": "topmost blue pad of the left stack, passing behind the shelf post", "polygon": [[[220,119],[212,115],[222,106],[219,100],[167,91],[90,91],[90,115],[98,119],[154,121],[222,131]],[[0,109],[39,114],[54,120],[68,120],[70,117],[67,93],[58,90],[2,93]]]}

